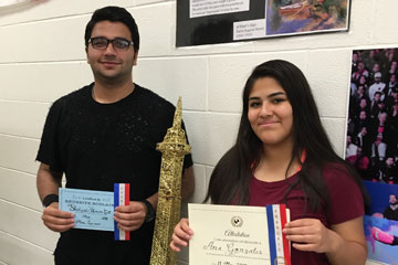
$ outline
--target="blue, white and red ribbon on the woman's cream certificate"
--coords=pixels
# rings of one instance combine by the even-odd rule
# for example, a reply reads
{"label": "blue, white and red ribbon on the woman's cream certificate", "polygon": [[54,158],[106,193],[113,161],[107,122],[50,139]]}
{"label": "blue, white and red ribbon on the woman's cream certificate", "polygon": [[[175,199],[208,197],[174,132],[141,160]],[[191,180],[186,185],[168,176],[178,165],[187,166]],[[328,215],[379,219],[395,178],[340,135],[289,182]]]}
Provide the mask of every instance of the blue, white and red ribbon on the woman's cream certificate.
{"label": "blue, white and red ribbon on the woman's cream certificate", "polygon": [[266,219],[271,264],[291,265],[289,241],[282,233],[287,222],[286,206],[284,204],[266,205]]}

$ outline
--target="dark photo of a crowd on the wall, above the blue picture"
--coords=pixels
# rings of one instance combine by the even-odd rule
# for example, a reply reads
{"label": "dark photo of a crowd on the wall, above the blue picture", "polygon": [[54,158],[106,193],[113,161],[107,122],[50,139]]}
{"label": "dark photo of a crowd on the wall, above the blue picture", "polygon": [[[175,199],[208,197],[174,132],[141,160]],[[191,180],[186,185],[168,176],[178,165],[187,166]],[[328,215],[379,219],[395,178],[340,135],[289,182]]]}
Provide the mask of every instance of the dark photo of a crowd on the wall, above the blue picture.
{"label": "dark photo of a crowd on the wall, above the blue picture", "polygon": [[353,52],[345,159],[363,180],[398,184],[398,49]]}

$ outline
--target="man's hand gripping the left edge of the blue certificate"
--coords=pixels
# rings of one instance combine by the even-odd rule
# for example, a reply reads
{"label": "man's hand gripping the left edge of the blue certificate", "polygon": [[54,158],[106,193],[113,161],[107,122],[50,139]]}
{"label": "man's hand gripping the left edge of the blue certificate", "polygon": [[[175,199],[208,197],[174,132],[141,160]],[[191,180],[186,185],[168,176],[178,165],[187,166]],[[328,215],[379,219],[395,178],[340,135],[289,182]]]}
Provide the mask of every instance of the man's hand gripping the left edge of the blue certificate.
{"label": "man's hand gripping the left edge of the blue certificate", "polygon": [[54,232],[65,232],[74,226],[73,214],[59,210],[59,203],[46,206],[42,214],[45,226]]}

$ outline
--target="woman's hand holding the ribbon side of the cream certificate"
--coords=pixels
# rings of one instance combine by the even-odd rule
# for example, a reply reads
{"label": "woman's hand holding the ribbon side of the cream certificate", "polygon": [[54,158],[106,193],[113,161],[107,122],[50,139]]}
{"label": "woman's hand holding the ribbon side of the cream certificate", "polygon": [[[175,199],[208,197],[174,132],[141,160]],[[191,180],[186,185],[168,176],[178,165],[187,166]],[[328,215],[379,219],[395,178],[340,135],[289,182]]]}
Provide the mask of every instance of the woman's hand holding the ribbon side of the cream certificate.
{"label": "woman's hand holding the ribbon side of the cream certificate", "polygon": [[283,230],[292,246],[298,251],[326,253],[333,251],[335,232],[326,229],[317,219],[298,219],[287,223]]}

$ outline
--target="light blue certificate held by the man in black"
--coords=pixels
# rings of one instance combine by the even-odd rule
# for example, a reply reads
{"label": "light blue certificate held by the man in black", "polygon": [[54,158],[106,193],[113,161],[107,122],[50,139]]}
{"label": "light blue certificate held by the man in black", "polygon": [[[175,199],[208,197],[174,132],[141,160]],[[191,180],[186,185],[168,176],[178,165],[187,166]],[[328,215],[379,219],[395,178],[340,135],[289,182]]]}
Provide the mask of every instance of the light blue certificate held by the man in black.
{"label": "light blue certificate held by the man in black", "polygon": [[114,193],[60,188],[60,210],[74,214],[74,229],[114,231]]}

